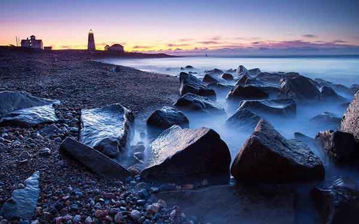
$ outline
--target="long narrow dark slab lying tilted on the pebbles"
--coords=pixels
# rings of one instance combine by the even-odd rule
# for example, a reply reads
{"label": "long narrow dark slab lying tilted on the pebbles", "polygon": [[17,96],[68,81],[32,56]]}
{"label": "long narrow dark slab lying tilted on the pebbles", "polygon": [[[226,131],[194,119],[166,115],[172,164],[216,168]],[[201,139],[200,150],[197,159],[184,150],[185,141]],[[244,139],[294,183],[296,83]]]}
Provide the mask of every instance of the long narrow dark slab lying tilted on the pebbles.
{"label": "long narrow dark slab lying tilted on the pebbles", "polygon": [[126,179],[130,176],[130,172],[121,164],[70,137],[65,138],[60,149],[107,179]]}

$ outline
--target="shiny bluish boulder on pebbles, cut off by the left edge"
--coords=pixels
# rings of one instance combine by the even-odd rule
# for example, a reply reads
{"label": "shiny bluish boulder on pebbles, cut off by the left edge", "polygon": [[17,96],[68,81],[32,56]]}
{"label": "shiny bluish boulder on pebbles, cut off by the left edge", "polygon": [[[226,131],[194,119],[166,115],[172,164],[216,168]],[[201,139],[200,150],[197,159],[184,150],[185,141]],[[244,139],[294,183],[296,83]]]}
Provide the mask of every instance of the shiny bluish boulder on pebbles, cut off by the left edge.
{"label": "shiny bluish boulder on pebbles, cut off by the left edge", "polygon": [[0,92],[0,126],[34,126],[58,120],[53,105],[59,101],[34,97],[26,92]]}

